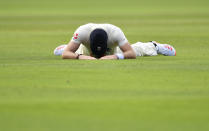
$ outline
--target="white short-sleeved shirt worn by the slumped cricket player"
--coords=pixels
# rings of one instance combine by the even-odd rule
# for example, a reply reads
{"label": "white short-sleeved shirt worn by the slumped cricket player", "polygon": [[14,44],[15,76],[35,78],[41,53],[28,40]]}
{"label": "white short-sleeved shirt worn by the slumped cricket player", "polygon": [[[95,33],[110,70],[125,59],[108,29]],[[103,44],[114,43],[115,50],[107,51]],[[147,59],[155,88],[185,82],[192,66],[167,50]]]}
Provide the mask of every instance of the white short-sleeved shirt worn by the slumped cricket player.
{"label": "white short-sleeved shirt worn by the slumped cricket player", "polygon": [[120,28],[111,24],[94,24],[89,23],[80,26],[74,33],[71,41],[77,44],[83,44],[86,48],[90,50],[90,34],[95,29],[103,29],[108,35],[107,47],[108,52],[106,55],[113,54],[116,46],[123,46],[128,42],[124,33]]}

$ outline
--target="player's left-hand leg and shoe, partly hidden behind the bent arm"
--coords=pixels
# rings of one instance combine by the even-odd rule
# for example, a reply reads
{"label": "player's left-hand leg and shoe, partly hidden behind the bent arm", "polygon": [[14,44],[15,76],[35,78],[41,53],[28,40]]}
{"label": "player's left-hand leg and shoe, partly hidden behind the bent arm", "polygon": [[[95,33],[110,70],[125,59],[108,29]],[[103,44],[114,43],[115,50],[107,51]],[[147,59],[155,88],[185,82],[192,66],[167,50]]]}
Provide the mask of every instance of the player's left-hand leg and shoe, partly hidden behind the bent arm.
{"label": "player's left-hand leg and shoe, partly hidden behind the bent arm", "polygon": [[[57,56],[62,55],[62,53],[66,47],[67,47],[67,45],[60,45],[60,46],[56,47],[54,49],[54,55],[57,55]],[[89,55],[88,49],[82,44],[79,46],[79,48],[76,50],[75,53]]]}

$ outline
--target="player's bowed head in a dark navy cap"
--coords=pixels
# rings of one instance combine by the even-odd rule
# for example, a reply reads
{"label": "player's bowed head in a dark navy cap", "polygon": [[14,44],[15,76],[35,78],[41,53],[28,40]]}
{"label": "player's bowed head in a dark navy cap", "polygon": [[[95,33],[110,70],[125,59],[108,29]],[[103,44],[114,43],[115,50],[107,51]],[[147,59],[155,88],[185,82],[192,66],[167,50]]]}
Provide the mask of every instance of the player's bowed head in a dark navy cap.
{"label": "player's bowed head in a dark navy cap", "polygon": [[90,34],[90,47],[93,55],[100,58],[107,51],[107,33],[103,29],[95,29]]}

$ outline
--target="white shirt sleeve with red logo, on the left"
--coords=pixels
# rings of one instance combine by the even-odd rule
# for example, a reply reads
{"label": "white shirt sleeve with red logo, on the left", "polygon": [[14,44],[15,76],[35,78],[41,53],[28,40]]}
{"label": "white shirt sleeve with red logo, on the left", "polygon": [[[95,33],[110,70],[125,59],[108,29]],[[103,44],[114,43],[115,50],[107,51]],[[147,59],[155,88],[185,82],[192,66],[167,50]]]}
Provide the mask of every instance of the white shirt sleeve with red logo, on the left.
{"label": "white shirt sleeve with red logo, on the left", "polygon": [[81,44],[86,37],[86,30],[84,28],[84,26],[80,26],[73,34],[73,37],[71,39],[72,42],[77,43],[77,44]]}

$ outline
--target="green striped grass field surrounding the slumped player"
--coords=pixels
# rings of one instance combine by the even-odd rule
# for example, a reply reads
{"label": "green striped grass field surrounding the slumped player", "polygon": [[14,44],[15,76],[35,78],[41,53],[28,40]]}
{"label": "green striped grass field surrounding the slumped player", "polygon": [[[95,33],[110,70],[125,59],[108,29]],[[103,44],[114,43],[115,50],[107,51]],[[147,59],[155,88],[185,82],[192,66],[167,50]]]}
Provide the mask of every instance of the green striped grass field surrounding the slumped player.
{"label": "green striped grass field surrounding the slumped player", "polygon": [[[177,56],[53,56],[89,22]],[[208,34],[208,0],[0,0],[0,130],[208,131]]]}

